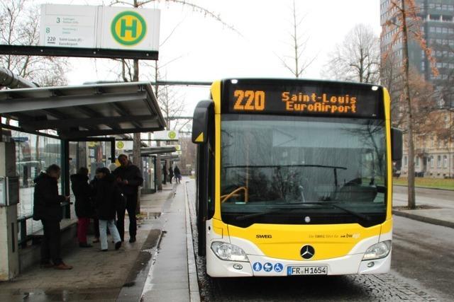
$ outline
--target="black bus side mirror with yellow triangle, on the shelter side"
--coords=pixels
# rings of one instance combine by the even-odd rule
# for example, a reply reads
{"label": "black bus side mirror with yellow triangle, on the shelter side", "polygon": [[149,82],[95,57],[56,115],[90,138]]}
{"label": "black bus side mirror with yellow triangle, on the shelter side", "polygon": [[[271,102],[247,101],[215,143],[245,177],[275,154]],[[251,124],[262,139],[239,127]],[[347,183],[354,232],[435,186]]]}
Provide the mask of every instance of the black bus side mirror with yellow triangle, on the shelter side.
{"label": "black bus side mirror with yellow triangle, on the shelter side", "polygon": [[192,118],[192,142],[206,144],[208,141],[208,125],[214,116],[214,103],[212,100],[201,100],[194,110]]}

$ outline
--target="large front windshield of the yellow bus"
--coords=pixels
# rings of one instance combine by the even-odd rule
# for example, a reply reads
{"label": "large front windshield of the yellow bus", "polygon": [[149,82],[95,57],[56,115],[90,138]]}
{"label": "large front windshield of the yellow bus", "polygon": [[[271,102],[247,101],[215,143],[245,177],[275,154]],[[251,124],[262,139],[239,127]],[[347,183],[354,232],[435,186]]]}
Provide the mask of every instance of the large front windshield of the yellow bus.
{"label": "large front windshield of the yellow bus", "polygon": [[385,155],[384,120],[223,115],[222,219],[382,223]]}

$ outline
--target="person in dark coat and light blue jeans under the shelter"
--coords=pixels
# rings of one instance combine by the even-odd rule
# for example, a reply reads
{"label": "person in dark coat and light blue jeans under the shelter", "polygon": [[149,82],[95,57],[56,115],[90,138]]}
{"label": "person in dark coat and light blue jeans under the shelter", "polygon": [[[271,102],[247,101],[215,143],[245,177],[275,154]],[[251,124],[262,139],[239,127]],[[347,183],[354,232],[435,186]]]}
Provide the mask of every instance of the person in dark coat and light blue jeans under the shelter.
{"label": "person in dark coat and light blue jeans under the shelter", "polygon": [[108,250],[107,228],[115,243],[115,249],[121,248],[121,238],[115,226],[115,213],[118,203],[122,202],[122,193],[116,184],[114,175],[108,168],[96,169],[96,180],[93,182],[96,216],[99,219],[99,240],[101,251]]}

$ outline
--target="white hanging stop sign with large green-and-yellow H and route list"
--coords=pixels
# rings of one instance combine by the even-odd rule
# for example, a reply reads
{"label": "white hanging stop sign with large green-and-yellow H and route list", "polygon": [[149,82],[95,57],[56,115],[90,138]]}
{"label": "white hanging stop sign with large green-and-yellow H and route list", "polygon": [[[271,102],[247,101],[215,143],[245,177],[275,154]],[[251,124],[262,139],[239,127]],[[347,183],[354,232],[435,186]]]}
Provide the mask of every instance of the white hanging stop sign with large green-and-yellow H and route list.
{"label": "white hanging stop sign with large green-and-yellow H and route list", "polygon": [[43,4],[40,45],[157,51],[160,11],[111,6]]}

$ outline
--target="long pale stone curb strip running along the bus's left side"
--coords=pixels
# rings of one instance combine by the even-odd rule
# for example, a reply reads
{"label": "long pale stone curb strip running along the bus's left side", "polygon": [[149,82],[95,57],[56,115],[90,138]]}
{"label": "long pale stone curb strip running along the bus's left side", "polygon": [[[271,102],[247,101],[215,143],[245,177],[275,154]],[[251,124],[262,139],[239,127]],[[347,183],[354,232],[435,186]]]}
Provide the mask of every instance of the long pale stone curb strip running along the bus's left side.
{"label": "long pale stone curb strip running along the bus's left side", "polygon": [[187,182],[184,182],[184,205],[186,209],[186,245],[187,245],[187,271],[189,277],[189,299],[191,302],[200,302],[199,279],[197,278],[196,258],[192,240],[191,216],[187,197]]}

